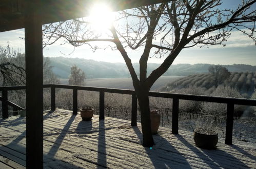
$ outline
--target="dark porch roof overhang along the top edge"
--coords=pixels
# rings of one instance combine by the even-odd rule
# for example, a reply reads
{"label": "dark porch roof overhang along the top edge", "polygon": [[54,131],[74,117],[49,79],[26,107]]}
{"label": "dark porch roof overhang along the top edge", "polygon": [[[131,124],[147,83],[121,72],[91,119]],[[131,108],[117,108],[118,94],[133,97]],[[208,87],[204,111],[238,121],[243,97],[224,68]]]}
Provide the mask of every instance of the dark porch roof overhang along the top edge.
{"label": "dark porch roof overhang along the top edge", "polygon": [[[25,27],[24,18],[25,0],[0,1],[0,32],[21,29]],[[42,24],[50,24],[64,20],[84,17],[88,9],[96,2],[106,3],[113,11],[130,9],[134,7],[168,2],[166,0],[44,0],[42,1]]]}

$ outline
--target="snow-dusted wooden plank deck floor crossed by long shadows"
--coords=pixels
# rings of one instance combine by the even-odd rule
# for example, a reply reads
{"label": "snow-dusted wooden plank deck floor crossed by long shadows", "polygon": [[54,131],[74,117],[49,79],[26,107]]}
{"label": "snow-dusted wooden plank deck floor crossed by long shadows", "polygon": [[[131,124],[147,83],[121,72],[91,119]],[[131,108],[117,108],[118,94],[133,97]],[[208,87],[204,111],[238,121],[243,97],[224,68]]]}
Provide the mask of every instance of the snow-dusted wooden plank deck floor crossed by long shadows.
{"label": "snow-dusted wooden plank deck floor crossed by long shadows", "polygon": [[[25,118],[0,120],[0,168],[25,168]],[[233,140],[218,149],[195,146],[192,133],[160,128],[152,150],[141,145],[140,124],[109,118],[81,121],[71,111],[44,113],[44,168],[256,168],[255,143]],[[11,167],[12,166],[12,167]]]}

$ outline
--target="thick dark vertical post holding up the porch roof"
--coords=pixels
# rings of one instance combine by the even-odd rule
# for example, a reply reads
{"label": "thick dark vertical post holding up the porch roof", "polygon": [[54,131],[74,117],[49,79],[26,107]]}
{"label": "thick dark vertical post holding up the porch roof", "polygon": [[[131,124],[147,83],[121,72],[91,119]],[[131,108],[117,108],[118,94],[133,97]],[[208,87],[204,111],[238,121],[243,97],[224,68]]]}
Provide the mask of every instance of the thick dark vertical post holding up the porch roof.
{"label": "thick dark vertical post holding up the porch roof", "polygon": [[43,168],[43,39],[41,3],[41,0],[24,1],[27,168]]}

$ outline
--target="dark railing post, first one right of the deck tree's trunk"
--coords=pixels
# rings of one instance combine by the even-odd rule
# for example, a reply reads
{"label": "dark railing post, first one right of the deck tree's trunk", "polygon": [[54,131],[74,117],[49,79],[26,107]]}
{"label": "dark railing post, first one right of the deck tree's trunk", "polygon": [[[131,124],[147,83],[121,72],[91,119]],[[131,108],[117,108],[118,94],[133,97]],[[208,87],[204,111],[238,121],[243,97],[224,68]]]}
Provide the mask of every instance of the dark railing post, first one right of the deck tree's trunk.
{"label": "dark railing post, first one right of the deck tree's trunk", "polygon": [[179,124],[179,99],[172,99],[172,134],[178,134],[178,124]]}

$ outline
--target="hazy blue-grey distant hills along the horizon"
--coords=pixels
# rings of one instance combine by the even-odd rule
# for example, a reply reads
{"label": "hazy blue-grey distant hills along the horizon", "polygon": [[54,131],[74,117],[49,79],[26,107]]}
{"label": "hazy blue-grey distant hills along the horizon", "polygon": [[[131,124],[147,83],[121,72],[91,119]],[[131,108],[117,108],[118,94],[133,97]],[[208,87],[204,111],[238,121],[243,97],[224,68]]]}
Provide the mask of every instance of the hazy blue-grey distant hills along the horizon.
{"label": "hazy blue-grey distant hills along the horizon", "polygon": [[[76,65],[82,69],[86,78],[126,78],[130,77],[129,71],[123,63],[110,63],[103,61],[95,61],[83,58],[67,58],[67,57],[50,57],[51,66],[53,66],[53,73],[58,78],[68,78],[70,75],[70,67]],[[139,64],[133,64],[137,75],[139,75]],[[160,64],[148,64],[148,74]],[[165,76],[187,76],[196,73],[207,73],[208,68],[212,66],[210,64],[178,64],[172,65]],[[246,72],[256,71],[256,66],[250,65],[222,65],[226,67],[230,72]]]}

